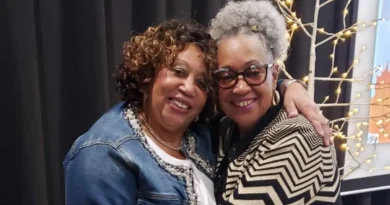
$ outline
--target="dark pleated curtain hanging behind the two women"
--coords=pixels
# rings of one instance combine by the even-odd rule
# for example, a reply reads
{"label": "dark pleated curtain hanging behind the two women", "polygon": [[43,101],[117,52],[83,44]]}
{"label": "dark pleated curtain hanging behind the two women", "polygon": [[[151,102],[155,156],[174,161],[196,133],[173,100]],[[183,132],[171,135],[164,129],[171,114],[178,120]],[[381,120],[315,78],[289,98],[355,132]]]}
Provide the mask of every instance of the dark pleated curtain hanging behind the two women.
{"label": "dark pleated curtain hanging behind the two women", "polygon": [[[0,148],[0,204],[64,204],[62,160],[74,140],[118,102],[113,74],[122,59],[123,42],[170,18],[207,25],[226,1],[1,0],[5,132]],[[345,1],[338,0],[321,12],[320,23],[330,31],[340,28],[337,19]],[[296,2],[303,19],[310,19],[314,1]],[[296,78],[307,72],[308,41],[301,37],[293,41],[287,62]],[[338,50],[343,55],[338,60],[341,65],[347,65],[353,54],[348,45]],[[330,67],[329,50],[328,46],[319,50],[318,76]],[[318,86],[326,93],[334,90],[332,85]],[[333,117],[337,112],[326,114]]]}

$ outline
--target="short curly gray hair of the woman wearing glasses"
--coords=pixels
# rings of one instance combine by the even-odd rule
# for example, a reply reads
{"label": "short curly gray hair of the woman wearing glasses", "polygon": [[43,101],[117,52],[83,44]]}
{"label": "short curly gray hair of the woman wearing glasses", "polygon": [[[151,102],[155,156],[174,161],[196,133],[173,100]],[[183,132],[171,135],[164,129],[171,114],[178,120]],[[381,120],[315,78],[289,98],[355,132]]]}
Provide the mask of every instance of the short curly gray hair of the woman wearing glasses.
{"label": "short curly gray hair of the woman wearing glasses", "polygon": [[268,1],[229,2],[211,20],[210,35],[215,40],[237,34],[257,35],[279,63],[289,47],[284,17]]}

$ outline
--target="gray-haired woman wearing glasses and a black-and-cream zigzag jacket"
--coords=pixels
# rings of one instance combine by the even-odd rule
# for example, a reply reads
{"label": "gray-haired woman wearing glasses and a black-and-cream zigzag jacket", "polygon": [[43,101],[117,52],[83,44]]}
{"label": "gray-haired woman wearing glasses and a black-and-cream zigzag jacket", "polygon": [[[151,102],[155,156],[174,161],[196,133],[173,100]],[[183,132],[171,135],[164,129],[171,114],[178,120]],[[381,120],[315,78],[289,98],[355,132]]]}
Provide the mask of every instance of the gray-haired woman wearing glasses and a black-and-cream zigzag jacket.
{"label": "gray-haired woman wearing glasses and a black-and-cream zigzag jacket", "polygon": [[341,204],[334,147],[281,106],[276,86],[286,32],[267,1],[230,2],[211,21],[226,114],[219,125],[218,204]]}

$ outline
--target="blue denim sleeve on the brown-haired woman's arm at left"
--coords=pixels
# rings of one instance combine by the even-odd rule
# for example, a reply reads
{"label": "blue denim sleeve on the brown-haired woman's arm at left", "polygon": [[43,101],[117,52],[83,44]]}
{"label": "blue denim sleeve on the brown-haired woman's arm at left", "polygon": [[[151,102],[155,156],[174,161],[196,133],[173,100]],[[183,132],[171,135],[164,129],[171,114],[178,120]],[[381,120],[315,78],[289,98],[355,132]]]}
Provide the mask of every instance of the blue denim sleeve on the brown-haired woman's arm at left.
{"label": "blue denim sleeve on the brown-haired woman's arm at left", "polygon": [[66,205],[137,204],[135,171],[114,147],[82,148],[64,170]]}

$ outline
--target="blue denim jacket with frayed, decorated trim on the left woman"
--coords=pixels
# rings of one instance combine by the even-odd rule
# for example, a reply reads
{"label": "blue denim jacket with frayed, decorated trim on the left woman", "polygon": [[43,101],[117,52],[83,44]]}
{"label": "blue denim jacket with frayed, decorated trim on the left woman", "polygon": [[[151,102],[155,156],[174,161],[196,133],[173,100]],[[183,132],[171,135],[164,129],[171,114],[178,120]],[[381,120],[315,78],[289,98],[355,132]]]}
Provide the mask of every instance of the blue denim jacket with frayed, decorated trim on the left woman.
{"label": "blue denim jacket with frayed, decorated trim on the left woman", "polygon": [[[67,205],[196,204],[193,170],[164,162],[134,114],[120,103],[80,136],[64,160]],[[192,125],[182,151],[211,180],[215,156],[207,129]]]}

